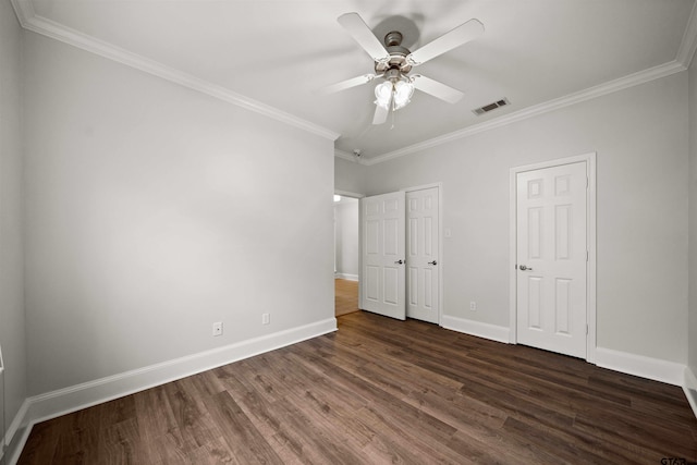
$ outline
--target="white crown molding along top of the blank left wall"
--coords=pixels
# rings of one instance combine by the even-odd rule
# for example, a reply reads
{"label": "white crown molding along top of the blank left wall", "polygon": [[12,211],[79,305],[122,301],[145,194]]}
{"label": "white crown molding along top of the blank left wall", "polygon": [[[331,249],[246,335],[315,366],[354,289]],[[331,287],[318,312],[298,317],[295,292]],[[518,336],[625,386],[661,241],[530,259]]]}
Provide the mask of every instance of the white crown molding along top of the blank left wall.
{"label": "white crown molding along top of the blank left wall", "polygon": [[50,37],[73,47],[101,56],[109,60],[125,64],[145,73],[161,77],[210,97],[235,105],[246,110],[254,111],[265,117],[281,121],[291,126],[298,127],[308,133],[337,140],[340,134],[322,127],[318,124],[297,118],[291,113],[273,108],[269,105],[245,97],[223,86],[193,76],[179,70],[174,70],[158,61],[147,59],[137,53],[130,52],[114,45],[96,39],[95,37],[80,33],[37,15],[34,12],[30,0],[11,0],[15,14],[22,27],[27,30]]}

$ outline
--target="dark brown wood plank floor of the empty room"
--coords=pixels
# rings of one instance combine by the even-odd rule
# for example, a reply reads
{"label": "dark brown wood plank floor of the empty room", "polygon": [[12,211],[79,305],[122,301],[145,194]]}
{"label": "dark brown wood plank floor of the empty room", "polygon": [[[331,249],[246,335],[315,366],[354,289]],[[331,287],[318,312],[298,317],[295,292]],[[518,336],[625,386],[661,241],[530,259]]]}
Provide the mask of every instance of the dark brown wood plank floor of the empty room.
{"label": "dark brown wood plank floor of the empty room", "polygon": [[363,311],[339,331],[38,424],[20,464],[697,461],[682,389]]}

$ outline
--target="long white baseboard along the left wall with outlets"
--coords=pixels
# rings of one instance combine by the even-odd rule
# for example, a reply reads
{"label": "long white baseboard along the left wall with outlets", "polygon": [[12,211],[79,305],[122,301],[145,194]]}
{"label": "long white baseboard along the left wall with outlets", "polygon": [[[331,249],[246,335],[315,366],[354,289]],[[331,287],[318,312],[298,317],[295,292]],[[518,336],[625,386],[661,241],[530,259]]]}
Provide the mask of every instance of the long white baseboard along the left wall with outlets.
{"label": "long white baseboard along the left wall with outlets", "polygon": [[[13,464],[19,458],[26,437],[28,437],[28,431],[36,423],[119,399],[243,358],[295,344],[335,330],[337,319],[328,318],[322,321],[254,338],[224,347],[200,352],[186,357],[28,397],[22,405],[20,413],[15,417],[15,420],[12,421],[8,431],[13,436],[19,429],[26,427],[23,440],[15,441],[20,442],[13,448],[15,450],[7,451],[10,457],[9,464]],[[12,439],[12,436],[9,436],[9,438]],[[14,462],[12,458],[14,458]]]}

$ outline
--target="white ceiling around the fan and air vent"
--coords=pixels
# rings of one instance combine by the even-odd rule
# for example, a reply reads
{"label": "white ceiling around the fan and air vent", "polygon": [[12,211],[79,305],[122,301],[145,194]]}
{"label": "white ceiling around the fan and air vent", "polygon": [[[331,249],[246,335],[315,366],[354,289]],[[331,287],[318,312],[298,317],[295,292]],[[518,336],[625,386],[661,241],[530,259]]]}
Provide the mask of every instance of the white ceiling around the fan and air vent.
{"label": "white ceiling around the fan and air vent", "polygon": [[[682,71],[697,42],[695,0],[13,2],[29,29],[90,42],[85,48],[173,81],[193,78],[194,87],[229,91],[253,108],[278,109],[339,134],[339,154],[358,148],[364,161]],[[372,60],[337,22],[352,11],[379,35],[398,25],[412,50],[478,19],[486,28],[480,38],[418,68],[465,97],[449,105],[417,91],[393,120],[374,126],[374,85],[319,93],[372,72]],[[503,97],[510,107],[472,112]]]}

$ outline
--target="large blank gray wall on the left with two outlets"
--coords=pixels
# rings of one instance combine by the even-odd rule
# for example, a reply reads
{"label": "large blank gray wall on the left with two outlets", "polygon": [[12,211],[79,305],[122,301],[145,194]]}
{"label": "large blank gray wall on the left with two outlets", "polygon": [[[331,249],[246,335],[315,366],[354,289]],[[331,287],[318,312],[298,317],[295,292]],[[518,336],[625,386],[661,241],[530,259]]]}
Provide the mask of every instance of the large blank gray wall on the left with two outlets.
{"label": "large blank gray wall on the left with two outlets", "polygon": [[331,140],[33,33],[24,57],[32,394],[333,318]]}

